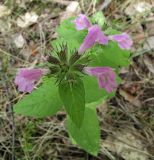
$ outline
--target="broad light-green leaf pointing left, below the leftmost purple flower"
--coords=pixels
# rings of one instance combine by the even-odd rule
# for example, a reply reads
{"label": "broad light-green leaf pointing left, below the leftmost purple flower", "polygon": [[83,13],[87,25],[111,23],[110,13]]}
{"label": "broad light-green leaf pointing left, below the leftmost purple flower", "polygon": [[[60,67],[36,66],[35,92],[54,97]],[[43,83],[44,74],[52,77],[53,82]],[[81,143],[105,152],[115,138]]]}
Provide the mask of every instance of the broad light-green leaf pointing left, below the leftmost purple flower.
{"label": "broad light-green leaf pointing left, below the leftmost purple flower", "polygon": [[62,102],[54,79],[47,79],[42,86],[34,90],[14,105],[18,114],[33,117],[51,116],[60,110]]}

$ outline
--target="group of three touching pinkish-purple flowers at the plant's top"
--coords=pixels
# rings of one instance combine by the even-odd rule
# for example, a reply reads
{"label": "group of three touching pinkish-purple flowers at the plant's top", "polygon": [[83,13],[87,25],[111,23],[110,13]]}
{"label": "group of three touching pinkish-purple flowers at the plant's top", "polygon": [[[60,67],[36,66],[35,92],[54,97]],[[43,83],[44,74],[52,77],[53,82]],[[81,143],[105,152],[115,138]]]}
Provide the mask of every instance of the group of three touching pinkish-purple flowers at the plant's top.
{"label": "group of three touching pinkish-purple flowers at the plant's top", "polygon": [[101,28],[98,25],[91,25],[88,18],[83,14],[74,20],[74,24],[77,30],[88,29],[88,34],[79,49],[79,53],[84,52],[95,43],[107,45],[109,40],[118,42],[122,49],[130,49],[133,44],[127,33],[105,36]]}

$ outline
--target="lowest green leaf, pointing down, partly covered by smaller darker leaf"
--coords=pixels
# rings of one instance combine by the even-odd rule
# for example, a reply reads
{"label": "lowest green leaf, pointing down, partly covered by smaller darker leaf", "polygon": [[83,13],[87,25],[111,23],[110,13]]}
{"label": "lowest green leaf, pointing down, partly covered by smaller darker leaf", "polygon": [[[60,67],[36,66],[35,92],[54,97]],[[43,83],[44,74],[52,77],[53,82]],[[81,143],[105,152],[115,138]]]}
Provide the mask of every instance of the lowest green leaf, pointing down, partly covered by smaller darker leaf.
{"label": "lowest green leaf, pointing down, partly covered by smaller darker leaf", "polygon": [[76,142],[82,149],[97,156],[100,146],[100,128],[95,109],[86,106],[81,128],[77,128],[69,117],[66,128],[74,144]]}

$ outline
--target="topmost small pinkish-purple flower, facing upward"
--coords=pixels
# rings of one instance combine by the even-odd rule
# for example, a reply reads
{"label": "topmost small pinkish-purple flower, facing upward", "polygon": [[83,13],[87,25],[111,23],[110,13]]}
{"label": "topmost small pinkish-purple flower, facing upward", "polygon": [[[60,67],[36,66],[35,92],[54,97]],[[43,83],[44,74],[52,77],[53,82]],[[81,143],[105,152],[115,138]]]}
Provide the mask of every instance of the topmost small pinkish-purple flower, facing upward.
{"label": "topmost small pinkish-purple flower, facing upward", "polygon": [[80,14],[73,22],[77,30],[83,30],[91,26],[88,18],[84,14]]}

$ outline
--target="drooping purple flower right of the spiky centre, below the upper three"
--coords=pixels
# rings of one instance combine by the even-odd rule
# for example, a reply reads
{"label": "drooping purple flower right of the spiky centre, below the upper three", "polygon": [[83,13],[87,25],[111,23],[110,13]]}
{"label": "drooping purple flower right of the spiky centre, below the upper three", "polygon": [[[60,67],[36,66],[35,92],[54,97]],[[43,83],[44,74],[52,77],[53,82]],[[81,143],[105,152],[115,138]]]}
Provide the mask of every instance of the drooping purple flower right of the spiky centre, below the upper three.
{"label": "drooping purple flower right of the spiky centre, below the upper three", "polygon": [[84,72],[97,77],[99,88],[105,88],[108,93],[117,87],[116,74],[110,67],[85,67]]}

